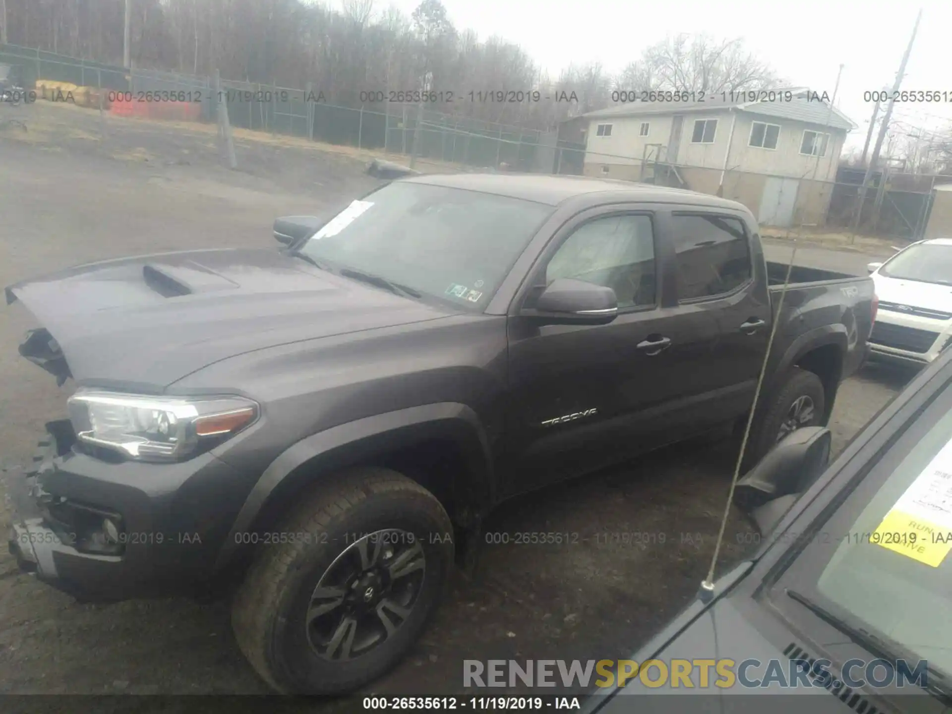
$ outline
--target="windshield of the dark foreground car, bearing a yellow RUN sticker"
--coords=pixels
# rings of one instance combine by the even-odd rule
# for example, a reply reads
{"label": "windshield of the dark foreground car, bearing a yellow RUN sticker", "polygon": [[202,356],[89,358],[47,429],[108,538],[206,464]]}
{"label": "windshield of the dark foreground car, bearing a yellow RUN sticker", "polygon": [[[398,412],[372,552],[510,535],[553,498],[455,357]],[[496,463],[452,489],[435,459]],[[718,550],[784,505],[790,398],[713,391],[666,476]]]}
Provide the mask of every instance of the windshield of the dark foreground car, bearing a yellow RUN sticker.
{"label": "windshield of the dark foreground car, bearing a yellow RUN sticker", "polygon": [[781,583],[952,672],[952,388],[874,464]]}

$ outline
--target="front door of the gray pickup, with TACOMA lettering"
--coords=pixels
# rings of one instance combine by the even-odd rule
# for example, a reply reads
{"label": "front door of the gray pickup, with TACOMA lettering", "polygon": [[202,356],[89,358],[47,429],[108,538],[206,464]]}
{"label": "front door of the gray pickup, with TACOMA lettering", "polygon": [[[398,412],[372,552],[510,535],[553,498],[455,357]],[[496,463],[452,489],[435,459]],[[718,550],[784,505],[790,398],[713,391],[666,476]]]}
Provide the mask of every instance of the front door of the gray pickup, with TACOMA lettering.
{"label": "front door of the gray pickup, with TACOMA lettering", "polygon": [[[509,319],[510,404],[504,495],[609,466],[682,436],[707,389],[704,361],[717,321],[665,299],[657,214],[589,211],[566,226],[534,268],[532,295],[556,278],[615,290],[619,315],[603,326],[539,326]],[[529,302],[526,307],[531,307]]]}

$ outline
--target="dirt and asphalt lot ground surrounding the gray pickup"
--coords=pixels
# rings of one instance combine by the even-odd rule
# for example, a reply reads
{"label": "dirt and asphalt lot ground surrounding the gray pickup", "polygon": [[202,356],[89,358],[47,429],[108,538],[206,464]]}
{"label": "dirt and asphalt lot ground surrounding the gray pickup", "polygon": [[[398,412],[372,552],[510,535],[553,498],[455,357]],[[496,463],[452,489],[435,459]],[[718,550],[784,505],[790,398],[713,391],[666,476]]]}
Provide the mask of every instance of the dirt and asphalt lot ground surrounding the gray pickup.
{"label": "dirt and asphalt lot ground surrounding the gray pickup", "polygon": [[[37,116],[26,135],[0,130],[0,286],[134,253],[269,246],[275,216],[313,213],[375,185],[362,174],[364,156],[243,139],[243,169],[229,171],[213,132],[202,140],[110,121],[104,140],[95,112],[82,112]],[[30,126],[32,115],[24,116]],[[0,462],[12,465],[29,459],[44,422],[64,413],[69,385],[58,389],[17,354],[33,327],[29,313],[0,309]],[[906,378],[867,368],[847,381],[834,410],[835,447]],[[577,532],[579,542],[487,545],[474,582],[455,577],[422,641],[372,690],[459,692],[464,659],[629,655],[697,592],[731,466],[724,446],[680,446],[500,507],[486,531]],[[4,533],[8,519],[0,509]],[[735,514],[724,562],[749,547],[748,532]],[[658,543],[605,543],[600,535],[614,533],[651,534]],[[0,555],[0,693],[267,691],[234,644],[227,603],[78,605]],[[73,709],[70,698],[53,702],[47,710]],[[135,709],[163,704],[142,700]]]}

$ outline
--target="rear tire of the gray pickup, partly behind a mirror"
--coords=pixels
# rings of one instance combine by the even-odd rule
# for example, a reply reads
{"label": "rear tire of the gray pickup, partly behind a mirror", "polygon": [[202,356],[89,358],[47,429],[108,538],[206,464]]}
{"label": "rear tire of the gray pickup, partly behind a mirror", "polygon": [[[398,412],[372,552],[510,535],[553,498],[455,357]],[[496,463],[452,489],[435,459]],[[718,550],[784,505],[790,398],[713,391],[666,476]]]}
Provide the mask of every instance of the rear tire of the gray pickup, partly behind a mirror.
{"label": "rear tire of the gray pickup, partly behind a mirror", "polygon": [[[811,416],[805,421],[799,421],[796,428],[821,426],[826,408],[826,392],[823,389],[823,382],[813,372],[808,372],[800,367],[792,367],[780,386],[774,390],[769,400],[764,402],[764,406],[761,407],[763,417],[754,420],[746,453],[744,454],[744,471],[748,471],[755,466],[785,436],[782,433],[782,427],[786,428],[784,422],[789,419],[791,408],[801,399],[806,400],[806,402],[801,403],[802,407],[812,404]],[[802,411],[800,416],[805,417],[805,412]]]}

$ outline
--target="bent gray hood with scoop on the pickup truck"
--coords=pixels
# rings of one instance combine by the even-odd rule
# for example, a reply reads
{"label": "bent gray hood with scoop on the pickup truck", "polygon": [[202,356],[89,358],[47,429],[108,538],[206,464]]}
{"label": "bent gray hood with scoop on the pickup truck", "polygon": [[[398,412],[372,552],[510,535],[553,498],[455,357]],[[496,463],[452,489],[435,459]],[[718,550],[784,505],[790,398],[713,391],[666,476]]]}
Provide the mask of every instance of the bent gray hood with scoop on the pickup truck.
{"label": "bent gray hood with scoop on the pickup truck", "polygon": [[69,268],[6,289],[39,320],[20,353],[77,384],[158,391],[254,349],[443,317],[276,249],[190,250]]}

